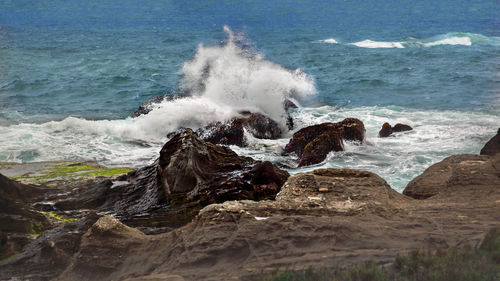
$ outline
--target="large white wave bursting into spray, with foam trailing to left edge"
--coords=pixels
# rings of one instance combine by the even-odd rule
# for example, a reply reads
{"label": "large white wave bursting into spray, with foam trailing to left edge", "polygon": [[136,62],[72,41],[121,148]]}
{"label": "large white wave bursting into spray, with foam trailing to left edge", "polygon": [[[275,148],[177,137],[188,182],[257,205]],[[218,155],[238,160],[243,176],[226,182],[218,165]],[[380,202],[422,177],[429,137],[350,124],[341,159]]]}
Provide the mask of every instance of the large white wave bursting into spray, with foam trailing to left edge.
{"label": "large white wave bursting into spray, with foam trailing to left edge", "polygon": [[[194,57],[182,66],[182,98],[165,100],[136,118],[94,121],[68,117],[0,127],[0,161],[82,158],[127,163],[127,158],[155,155],[166,135],[179,127],[197,129],[228,120],[242,110],[264,113],[286,130],[284,101],[314,94],[313,78],[300,69],[265,60],[262,54],[241,47],[244,38],[240,34],[227,27],[224,31],[228,39],[223,45],[199,45]],[[144,148],[134,148],[138,143]]]}

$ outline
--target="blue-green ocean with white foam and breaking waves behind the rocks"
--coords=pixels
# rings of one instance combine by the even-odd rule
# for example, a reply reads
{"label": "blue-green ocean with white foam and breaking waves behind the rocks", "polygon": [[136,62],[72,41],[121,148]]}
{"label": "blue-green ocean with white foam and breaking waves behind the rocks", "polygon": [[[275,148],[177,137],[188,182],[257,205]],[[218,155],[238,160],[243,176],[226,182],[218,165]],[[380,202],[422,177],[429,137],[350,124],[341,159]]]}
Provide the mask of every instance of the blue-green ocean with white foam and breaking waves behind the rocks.
{"label": "blue-green ocean with white foam and breaking waves behind the rocks", "polygon": [[[158,95],[183,98],[129,117]],[[301,105],[295,130],[355,117],[366,142],[295,168],[285,98]],[[0,161],[141,167],[172,130],[240,110],[285,133],[247,134],[238,154],[292,174],[368,170],[402,191],[500,127],[500,3],[0,0]],[[414,130],[378,138],[384,122]]]}

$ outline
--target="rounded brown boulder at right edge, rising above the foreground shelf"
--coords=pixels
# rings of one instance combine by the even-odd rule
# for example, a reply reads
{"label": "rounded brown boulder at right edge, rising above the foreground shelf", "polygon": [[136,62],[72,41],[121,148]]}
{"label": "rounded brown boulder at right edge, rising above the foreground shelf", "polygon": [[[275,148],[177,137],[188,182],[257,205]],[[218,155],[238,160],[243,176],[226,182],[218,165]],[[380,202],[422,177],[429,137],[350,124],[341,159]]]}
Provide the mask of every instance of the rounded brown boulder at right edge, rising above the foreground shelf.
{"label": "rounded brown boulder at right edge, rising above the foreground shelf", "polygon": [[441,194],[450,196],[465,188],[500,187],[500,155],[454,155],[430,166],[408,183],[404,195],[426,199]]}

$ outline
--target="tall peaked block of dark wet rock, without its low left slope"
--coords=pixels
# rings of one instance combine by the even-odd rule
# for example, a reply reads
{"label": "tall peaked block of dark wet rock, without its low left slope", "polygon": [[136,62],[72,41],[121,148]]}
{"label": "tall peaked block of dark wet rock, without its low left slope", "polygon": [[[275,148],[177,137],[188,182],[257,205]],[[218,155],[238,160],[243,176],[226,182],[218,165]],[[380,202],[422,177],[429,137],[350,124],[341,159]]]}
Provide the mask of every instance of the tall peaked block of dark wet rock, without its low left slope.
{"label": "tall peaked block of dark wet rock, without its low left slope", "polygon": [[272,199],[286,178],[288,173],[271,163],[240,157],[227,147],[203,141],[190,129],[160,151],[159,186],[173,205]]}

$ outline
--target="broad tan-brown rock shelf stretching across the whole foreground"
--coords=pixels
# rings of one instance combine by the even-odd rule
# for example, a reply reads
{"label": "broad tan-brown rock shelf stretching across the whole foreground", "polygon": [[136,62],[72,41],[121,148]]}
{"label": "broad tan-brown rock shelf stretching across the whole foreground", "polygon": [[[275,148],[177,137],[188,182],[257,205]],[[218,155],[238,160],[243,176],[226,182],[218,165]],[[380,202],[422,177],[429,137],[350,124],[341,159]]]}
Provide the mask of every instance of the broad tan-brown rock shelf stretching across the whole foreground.
{"label": "broad tan-brown rock shelf stretching across the whole foreground", "polygon": [[[440,167],[450,177],[431,180],[429,192],[423,179]],[[211,204],[159,235],[90,215],[42,234],[0,265],[0,279],[254,280],[277,268],[389,264],[412,249],[474,247],[500,225],[500,154],[453,156],[419,178],[405,193],[426,199],[370,172],[315,170],[290,177],[275,200]]]}

